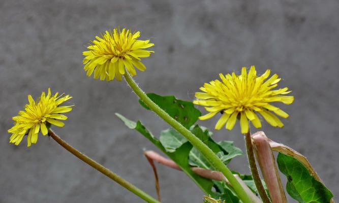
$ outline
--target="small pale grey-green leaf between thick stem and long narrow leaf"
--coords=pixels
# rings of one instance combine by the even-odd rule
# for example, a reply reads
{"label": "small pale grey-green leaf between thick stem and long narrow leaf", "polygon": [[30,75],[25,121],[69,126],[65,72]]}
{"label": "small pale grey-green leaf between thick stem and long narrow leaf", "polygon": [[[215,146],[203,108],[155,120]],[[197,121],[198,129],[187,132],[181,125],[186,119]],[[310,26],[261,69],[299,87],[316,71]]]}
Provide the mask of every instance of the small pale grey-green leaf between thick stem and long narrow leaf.
{"label": "small pale grey-green leaf between thick stem and long narrow leaf", "polygon": [[187,142],[187,139],[173,128],[161,131],[159,140],[167,152],[174,152]]}

